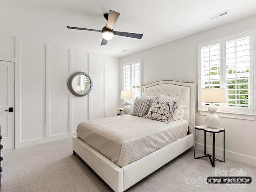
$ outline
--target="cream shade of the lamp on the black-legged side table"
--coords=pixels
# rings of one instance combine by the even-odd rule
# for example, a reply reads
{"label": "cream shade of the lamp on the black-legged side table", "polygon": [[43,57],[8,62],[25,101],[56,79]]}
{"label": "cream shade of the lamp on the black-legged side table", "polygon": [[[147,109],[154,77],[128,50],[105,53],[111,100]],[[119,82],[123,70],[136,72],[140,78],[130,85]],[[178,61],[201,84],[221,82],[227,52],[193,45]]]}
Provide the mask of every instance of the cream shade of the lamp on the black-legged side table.
{"label": "cream shade of the lamp on the black-legged side table", "polygon": [[201,89],[200,102],[206,103],[227,103],[226,89],[204,88]]}

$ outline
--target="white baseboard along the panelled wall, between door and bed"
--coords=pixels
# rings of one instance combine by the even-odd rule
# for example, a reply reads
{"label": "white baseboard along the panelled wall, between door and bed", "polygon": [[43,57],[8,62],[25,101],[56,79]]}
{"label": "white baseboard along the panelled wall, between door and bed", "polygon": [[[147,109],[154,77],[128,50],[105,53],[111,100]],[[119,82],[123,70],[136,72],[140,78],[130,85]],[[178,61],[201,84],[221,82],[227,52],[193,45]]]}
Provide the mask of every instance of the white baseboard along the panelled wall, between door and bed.
{"label": "white baseboard along the panelled wall, between door and bed", "polygon": [[20,148],[22,147],[28,147],[28,146],[33,146],[37,144],[42,144],[42,143],[47,143],[55,140],[60,140],[60,139],[65,139],[74,136],[74,133],[64,133],[64,134],[59,134],[59,135],[54,135],[50,137],[43,137],[43,138],[38,138],[38,139],[33,139],[33,140],[27,140],[27,141],[22,141],[20,142]]}

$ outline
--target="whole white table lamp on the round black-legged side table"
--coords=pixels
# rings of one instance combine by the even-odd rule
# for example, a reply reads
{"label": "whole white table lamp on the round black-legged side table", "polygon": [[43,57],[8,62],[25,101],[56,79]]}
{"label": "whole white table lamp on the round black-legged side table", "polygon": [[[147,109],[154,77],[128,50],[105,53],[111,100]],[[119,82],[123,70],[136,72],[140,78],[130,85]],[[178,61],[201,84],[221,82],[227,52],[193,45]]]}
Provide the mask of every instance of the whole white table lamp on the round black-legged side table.
{"label": "whole white table lamp on the round black-legged side table", "polygon": [[204,88],[201,90],[200,102],[212,103],[208,107],[210,113],[205,124],[208,128],[216,129],[220,125],[219,117],[215,114],[217,107],[214,103],[227,103],[226,89],[224,88]]}

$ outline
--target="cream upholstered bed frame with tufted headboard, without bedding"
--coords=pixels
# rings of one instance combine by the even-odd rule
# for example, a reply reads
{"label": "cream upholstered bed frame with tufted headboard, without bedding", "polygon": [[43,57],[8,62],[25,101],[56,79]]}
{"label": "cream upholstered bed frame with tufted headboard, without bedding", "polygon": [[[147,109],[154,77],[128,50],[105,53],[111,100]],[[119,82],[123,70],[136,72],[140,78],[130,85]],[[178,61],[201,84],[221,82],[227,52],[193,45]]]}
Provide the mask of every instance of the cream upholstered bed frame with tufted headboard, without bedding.
{"label": "cream upholstered bed frame with tufted headboard, without bedding", "polygon": [[188,106],[184,119],[189,134],[122,168],[74,136],[73,154],[78,154],[115,192],[127,190],[194,145],[195,82],[158,81],[142,86],[142,92],[148,96],[182,96],[182,105]]}

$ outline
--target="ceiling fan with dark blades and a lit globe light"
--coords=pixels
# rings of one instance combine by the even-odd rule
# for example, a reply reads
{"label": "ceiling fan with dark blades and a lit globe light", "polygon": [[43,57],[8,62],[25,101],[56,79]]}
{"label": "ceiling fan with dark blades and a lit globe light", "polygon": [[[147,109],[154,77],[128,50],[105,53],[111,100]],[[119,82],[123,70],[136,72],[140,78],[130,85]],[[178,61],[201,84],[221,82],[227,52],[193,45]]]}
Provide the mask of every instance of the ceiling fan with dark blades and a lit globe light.
{"label": "ceiling fan with dark blades and a lit globe light", "polygon": [[102,42],[100,45],[106,45],[108,40],[112,39],[114,37],[114,35],[141,39],[143,34],[119,32],[119,31],[113,30],[113,27],[114,27],[119,15],[120,15],[120,13],[114,12],[112,10],[109,10],[109,13],[105,13],[104,18],[107,20],[107,25],[104,28],[102,28],[102,30],[86,29],[86,28],[79,28],[79,27],[69,27],[69,26],[67,26],[67,28],[68,29],[78,29],[78,30],[101,32],[103,39],[102,39]]}

